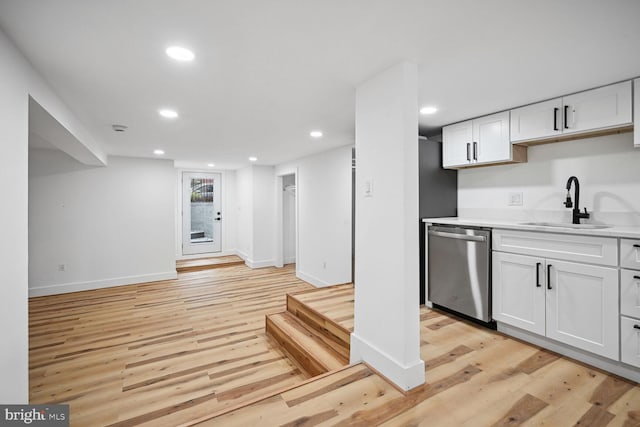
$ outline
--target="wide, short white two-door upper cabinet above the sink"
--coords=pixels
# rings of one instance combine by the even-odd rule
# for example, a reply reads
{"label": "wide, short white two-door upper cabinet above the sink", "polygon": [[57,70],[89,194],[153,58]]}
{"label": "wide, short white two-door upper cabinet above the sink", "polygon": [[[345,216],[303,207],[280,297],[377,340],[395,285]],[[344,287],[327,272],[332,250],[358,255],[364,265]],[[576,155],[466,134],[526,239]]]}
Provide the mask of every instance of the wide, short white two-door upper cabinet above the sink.
{"label": "wide, short white two-door upper cabinet above the sink", "polygon": [[631,93],[626,81],[511,110],[511,142],[629,125]]}

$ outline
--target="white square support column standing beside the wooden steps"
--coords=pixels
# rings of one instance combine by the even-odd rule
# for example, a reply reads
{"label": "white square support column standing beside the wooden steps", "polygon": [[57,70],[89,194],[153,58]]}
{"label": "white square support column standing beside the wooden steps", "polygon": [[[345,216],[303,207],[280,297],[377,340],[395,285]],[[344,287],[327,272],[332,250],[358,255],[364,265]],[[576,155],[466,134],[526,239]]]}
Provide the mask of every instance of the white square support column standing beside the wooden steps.
{"label": "white square support column standing beside the wooden steps", "polygon": [[424,383],[420,358],[417,65],[356,89],[355,328],[351,362],[403,390]]}

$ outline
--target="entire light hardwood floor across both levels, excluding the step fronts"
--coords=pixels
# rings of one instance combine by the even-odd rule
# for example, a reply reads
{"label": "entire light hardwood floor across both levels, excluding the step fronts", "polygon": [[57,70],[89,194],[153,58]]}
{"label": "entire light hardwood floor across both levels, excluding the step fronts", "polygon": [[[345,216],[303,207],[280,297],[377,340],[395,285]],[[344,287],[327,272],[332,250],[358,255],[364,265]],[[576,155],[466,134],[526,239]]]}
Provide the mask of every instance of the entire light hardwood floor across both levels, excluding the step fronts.
{"label": "entire light hardwood floor across both levels, excluding the step fronts", "polygon": [[297,293],[353,325],[348,292],[309,289],[236,266],[34,298],[32,403],[69,403],[77,426],[640,426],[637,385],[425,308],[424,386],[403,395],[365,365],[305,378],[264,315]]}

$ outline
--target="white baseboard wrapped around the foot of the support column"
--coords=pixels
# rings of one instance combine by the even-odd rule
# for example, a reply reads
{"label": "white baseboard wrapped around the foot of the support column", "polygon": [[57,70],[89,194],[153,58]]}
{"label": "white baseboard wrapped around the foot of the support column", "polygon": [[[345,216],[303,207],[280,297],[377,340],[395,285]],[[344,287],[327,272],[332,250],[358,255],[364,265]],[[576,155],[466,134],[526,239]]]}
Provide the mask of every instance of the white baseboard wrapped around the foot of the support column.
{"label": "white baseboard wrapped around the foot of the support column", "polygon": [[351,333],[351,364],[365,362],[401,390],[411,390],[425,381],[424,361],[403,365],[371,343]]}

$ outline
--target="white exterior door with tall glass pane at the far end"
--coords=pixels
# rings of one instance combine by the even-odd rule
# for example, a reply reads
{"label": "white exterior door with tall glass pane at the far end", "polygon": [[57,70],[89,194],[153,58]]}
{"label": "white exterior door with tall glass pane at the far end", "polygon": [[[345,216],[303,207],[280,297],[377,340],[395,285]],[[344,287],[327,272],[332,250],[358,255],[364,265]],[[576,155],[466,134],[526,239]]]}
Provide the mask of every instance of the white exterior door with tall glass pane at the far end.
{"label": "white exterior door with tall glass pane at the far end", "polygon": [[217,173],[182,174],[182,254],[222,250],[221,176]]}

